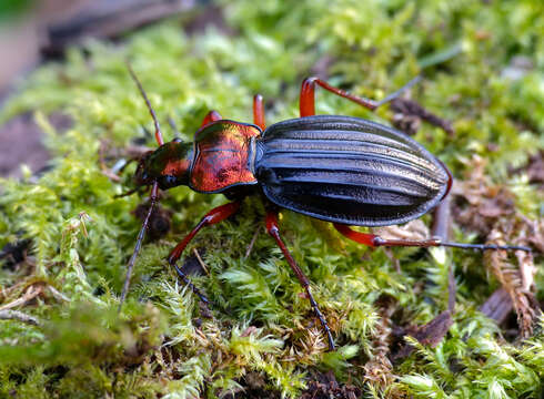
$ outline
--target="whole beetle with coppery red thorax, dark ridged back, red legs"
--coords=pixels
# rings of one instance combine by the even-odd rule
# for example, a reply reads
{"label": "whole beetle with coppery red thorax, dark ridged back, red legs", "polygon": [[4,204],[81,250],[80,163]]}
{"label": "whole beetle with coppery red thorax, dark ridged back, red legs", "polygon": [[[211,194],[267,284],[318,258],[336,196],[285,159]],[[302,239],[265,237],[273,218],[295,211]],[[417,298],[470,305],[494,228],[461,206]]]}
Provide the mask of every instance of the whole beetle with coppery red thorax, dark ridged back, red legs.
{"label": "whole beetle with coppery red thorax, dark ridged back, red legs", "polygon": [[177,263],[200,229],[235,214],[245,196],[261,195],[265,201],[266,232],[305,290],[331,350],[334,349],[334,340],[326,319],[312,295],[308,277],[281,237],[278,224],[281,208],[331,222],[349,239],[371,247],[447,246],[531,250],[523,246],[462,244],[437,238],[385,239],[350,227],[386,226],[417,218],[447,195],[453,178],[439,158],[400,131],[359,117],[315,115],[315,86],[375,110],[399,96],[419,78],[379,102],[350,94],[319,78],[308,78],[302,82],[298,119],[266,126],[263,99],[256,94],[253,98],[252,124],[226,120],[216,111],[210,111],[193,143],[179,139],[164,143],[145,91],[132,68],[128,68],[153,119],[159,147],[140,160],[134,174],[138,187],[151,186],[150,207],[128,263],[121,304],[158,202],[159,188],[169,190],[179,185],[187,185],[199,193],[221,193],[231,200],[205,214],[170,252],[168,263],[183,282],[202,301],[208,303],[208,298]]}

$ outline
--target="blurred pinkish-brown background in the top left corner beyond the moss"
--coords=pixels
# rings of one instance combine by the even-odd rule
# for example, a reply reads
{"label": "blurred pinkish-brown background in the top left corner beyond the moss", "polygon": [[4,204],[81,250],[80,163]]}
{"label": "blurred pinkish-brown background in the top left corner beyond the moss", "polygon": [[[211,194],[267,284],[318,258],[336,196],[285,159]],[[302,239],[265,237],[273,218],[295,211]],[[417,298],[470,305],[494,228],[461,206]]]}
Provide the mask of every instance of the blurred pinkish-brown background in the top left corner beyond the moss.
{"label": "blurred pinkish-brown background in the top left corner beyond the moss", "polygon": [[187,11],[198,0],[3,0],[0,2],[0,92],[40,61],[62,57],[84,38],[123,32]]}

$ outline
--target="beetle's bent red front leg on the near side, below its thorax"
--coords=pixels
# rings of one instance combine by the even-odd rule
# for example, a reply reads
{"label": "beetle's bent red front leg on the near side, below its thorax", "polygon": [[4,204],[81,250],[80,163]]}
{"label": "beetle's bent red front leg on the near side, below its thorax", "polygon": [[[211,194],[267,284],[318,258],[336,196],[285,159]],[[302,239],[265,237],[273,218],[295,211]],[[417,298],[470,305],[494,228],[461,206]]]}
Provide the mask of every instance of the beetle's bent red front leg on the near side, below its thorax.
{"label": "beetle's bent red front leg on the near side, below its thorax", "polygon": [[[214,112],[214,111],[212,111],[212,112]],[[194,228],[191,231],[191,233],[189,233],[175,246],[175,248],[172,249],[172,252],[168,256],[168,263],[172,267],[175,268],[175,272],[181,277],[183,283],[185,283],[193,290],[193,293],[197,294],[199,296],[199,298],[205,304],[209,304],[208,298],[200,291],[199,288],[197,288],[191,283],[189,277],[178,267],[177,263],[180,259],[181,254],[183,253],[183,249],[185,249],[185,247],[189,245],[189,243],[194,238],[197,233],[199,233],[202,227],[214,225],[219,222],[224,221],[229,216],[232,216],[233,214],[235,214],[238,212],[238,209],[240,209],[240,204],[241,204],[240,201],[235,201],[235,202],[224,204],[224,205],[221,205],[221,206],[218,206],[218,207],[211,209],[209,213],[206,213],[204,215],[204,217],[202,217],[202,219],[199,222],[199,224],[197,226],[194,226]]]}

